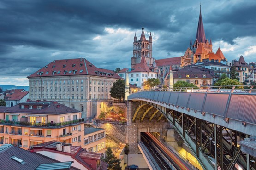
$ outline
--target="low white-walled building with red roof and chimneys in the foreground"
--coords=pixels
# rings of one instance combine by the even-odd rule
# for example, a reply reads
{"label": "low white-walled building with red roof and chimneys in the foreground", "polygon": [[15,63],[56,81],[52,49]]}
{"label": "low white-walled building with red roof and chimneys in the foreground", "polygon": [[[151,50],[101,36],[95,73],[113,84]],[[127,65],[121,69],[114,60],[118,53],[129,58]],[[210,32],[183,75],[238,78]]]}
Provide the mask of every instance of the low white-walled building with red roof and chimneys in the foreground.
{"label": "low white-walled building with red roof and chimneys in the foreground", "polygon": [[72,161],[72,166],[80,170],[107,170],[108,164],[101,160],[102,153],[87,152],[81,146],[59,141],[49,141],[32,146],[30,152],[57,161]]}

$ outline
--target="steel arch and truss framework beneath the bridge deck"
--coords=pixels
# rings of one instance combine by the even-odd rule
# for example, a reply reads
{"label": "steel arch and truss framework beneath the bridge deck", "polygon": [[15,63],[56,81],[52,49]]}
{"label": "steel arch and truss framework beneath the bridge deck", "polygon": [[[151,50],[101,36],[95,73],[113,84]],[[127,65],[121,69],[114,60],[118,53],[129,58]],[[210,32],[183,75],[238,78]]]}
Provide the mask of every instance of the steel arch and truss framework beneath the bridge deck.
{"label": "steel arch and truss framework beneath the bridge deck", "polygon": [[168,120],[204,169],[238,170],[239,165],[244,170],[256,170],[256,158],[242,153],[238,142],[248,138],[248,135],[158,104],[139,101],[132,103],[133,122]]}

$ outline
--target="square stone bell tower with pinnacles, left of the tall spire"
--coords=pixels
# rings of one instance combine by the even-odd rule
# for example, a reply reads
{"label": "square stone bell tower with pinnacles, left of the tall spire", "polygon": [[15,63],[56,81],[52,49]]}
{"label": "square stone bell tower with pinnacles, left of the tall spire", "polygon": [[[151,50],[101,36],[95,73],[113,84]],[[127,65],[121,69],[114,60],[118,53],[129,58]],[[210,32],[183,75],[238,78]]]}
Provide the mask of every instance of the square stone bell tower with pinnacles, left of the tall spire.
{"label": "square stone bell tower with pinnacles, left of the tall spire", "polygon": [[152,66],[154,58],[152,58],[152,35],[150,33],[149,40],[146,40],[144,27],[140,40],[137,40],[136,33],[133,38],[133,57],[131,57],[131,68],[141,62],[142,57],[145,57],[147,65]]}

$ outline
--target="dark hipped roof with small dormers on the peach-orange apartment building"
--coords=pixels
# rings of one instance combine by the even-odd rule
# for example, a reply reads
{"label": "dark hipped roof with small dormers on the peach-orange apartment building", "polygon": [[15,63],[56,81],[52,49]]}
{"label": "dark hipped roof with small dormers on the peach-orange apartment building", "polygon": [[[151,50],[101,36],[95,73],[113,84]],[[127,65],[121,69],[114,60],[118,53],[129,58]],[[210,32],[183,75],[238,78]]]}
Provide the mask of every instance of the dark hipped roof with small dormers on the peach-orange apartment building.
{"label": "dark hipped roof with small dormers on the peach-orange apartment building", "polygon": [[[24,108],[20,106],[24,105]],[[33,106],[32,109],[29,109],[28,106]],[[37,106],[42,106],[39,110]],[[5,110],[5,113],[30,113],[30,114],[66,114],[66,113],[79,113],[79,110],[67,107],[63,104],[53,102],[53,101],[29,101],[19,103],[18,105],[8,107]]]}

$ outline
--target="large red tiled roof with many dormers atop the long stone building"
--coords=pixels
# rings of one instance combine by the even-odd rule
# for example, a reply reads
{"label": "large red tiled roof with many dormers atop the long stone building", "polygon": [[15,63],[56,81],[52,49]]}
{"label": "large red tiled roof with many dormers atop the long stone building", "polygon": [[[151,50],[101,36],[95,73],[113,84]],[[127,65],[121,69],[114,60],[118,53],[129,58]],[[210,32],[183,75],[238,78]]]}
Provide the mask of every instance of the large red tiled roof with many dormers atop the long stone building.
{"label": "large red tiled roof with many dormers atop the long stone building", "polygon": [[54,60],[45,67],[28,76],[28,78],[73,75],[94,75],[122,79],[113,70],[97,68],[85,58]]}

